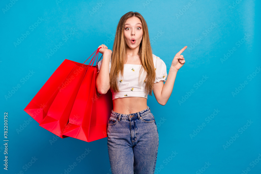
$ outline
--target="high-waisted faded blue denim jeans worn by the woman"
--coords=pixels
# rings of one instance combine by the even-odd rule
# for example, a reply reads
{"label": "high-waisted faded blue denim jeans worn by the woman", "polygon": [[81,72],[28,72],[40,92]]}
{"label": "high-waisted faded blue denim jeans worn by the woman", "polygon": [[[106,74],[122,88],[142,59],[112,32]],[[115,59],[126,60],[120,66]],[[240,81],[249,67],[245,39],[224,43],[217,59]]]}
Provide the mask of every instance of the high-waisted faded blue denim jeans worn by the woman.
{"label": "high-waisted faded blue denim jeans worn by the woman", "polygon": [[131,114],[111,110],[107,134],[112,174],[154,173],[159,134],[149,106]]}

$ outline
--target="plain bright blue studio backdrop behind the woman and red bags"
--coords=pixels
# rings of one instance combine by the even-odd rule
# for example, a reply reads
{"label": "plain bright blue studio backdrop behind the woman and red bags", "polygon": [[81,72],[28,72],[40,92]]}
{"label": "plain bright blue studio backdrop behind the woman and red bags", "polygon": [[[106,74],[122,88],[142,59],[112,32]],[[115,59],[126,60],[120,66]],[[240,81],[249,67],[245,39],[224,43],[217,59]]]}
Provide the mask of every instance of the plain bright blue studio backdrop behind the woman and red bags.
{"label": "plain bright blue studio backdrop behind the woman and red bags", "polygon": [[[51,145],[54,134],[35,120],[28,121],[31,116],[23,109],[64,59],[83,63],[101,44],[112,49],[118,21],[129,11],[145,18],[153,54],[165,62],[167,73],[175,54],[188,46],[182,53],[186,63],[177,73],[167,104],[148,97],[159,132],[155,173],[260,173],[260,1],[102,2],[1,1],[2,134],[4,112],[9,118],[9,170],[3,169],[2,142],[1,173],[60,174],[74,162],[77,166],[69,173],[111,173],[107,138],[94,142],[58,138]],[[76,32],[65,41],[72,29]],[[27,31],[29,35],[15,45]],[[48,57],[60,42],[63,45]],[[30,70],[35,73],[20,81]],[[6,99],[17,84],[21,87]],[[241,90],[233,95],[236,88]],[[29,124],[17,133],[25,122]],[[76,158],[85,148],[91,151],[79,163]],[[35,163],[24,168],[33,157]]]}

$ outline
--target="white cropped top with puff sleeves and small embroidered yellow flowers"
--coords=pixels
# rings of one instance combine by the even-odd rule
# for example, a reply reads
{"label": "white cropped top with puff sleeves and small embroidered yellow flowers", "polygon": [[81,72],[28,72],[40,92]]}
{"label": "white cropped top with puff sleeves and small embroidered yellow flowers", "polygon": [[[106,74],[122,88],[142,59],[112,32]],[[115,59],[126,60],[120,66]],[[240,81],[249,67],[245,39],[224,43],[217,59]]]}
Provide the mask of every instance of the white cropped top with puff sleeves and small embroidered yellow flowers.
{"label": "white cropped top with puff sleeves and small embroidered yellow flowers", "polygon": [[[159,82],[163,80],[163,82],[166,81],[166,78],[168,76],[167,74],[167,67],[166,64],[163,62],[163,60],[154,54],[152,54],[154,67],[156,71],[156,78],[154,83]],[[100,67],[102,64],[102,59],[98,62],[98,73],[100,71]],[[145,78],[146,78],[146,72],[143,70],[143,73],[140,74],[140,86],[139,86],[139,73],[140,68],[142,68],[142,65],[135,65],[135,64],[124,64],[124,72],[123,77],[121,74],[119,74],[119,77],[117,78],[118,82],[118,88],[120,92],[114,93],[112,92],[112,100],[116,98],[122,98],[122,97],[144,97],[148,99],[147,93],[145,92]],[[109,74],[111,71],[111,59],[109,63]]]}

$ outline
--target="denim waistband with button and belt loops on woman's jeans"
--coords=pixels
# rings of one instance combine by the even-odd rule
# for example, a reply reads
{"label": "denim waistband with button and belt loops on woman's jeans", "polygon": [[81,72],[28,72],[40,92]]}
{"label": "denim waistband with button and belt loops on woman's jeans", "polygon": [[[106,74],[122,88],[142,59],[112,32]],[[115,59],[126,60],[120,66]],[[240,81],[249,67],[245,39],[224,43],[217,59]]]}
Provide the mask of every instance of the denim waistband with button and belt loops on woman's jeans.
{"label": "denim waistband with button and belt loops on woman's jeans", "polygon": [[111,110],[111,117],[117,118],[118,121],[120,121],[121,119],[123,120],[131,120],[131,119],[135,119],[138,118],[140,119],[141,116],[147,115],[148,113],[150,113],[150,108],[149,106],[147,106],[146,109],[136,112],[136,113],[130,113],[130,114],[122,114],[122,113],[117,113],[114,112],[113,110]]}

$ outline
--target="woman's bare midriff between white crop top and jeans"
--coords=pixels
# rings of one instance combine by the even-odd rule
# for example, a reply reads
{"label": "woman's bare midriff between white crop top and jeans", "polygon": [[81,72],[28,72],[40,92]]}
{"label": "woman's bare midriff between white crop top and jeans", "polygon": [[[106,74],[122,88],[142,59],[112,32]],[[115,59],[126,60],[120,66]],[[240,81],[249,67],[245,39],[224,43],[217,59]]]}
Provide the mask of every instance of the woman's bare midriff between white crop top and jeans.
{"label": "woman's bare midriff between white crop top and jeans", "polygon": [[144,97],[123,97],[112,100],[113,111],[122,114],[140,112],[147,109],[147,98]]}

